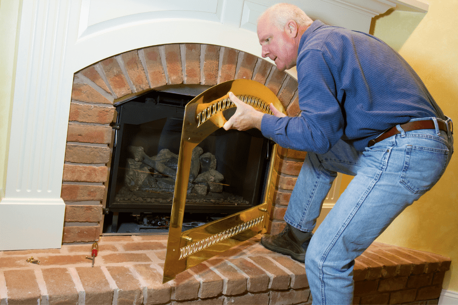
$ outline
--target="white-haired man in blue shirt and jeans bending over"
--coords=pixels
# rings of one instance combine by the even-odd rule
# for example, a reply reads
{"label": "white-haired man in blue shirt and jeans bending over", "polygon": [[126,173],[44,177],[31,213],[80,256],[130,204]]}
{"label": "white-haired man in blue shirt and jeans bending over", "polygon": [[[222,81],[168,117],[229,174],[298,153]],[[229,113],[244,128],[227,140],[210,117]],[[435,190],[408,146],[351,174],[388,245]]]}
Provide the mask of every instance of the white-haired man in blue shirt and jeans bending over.
{"label": "white-haired man in blue shirt and jeans bending over", "polygon": [[[268,249],[305,261],[314,304],[351,304],[354,259],[442,176],[452,122],[409,64],[371,35],[312,21],[277,4],[259,19],[262,56],[297,66],[298,117],[237,111],[224,129],[258,128],[285,148],[307,151],[279,235]],[[355,176],[316,230],[337,172]]]}

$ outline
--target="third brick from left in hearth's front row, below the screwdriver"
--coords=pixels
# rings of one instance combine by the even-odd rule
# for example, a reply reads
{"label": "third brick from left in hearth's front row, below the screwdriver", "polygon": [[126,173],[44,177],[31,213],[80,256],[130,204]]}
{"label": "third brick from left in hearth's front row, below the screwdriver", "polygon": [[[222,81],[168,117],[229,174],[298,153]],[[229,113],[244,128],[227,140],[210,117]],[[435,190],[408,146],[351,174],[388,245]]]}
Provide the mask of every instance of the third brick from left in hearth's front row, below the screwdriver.
{"label": "third brick from left in hearth's front row, below the screwdriver", "polygon": [[113,290],[100,267],[77,267],[86,294],[85,304],[111,304]]}

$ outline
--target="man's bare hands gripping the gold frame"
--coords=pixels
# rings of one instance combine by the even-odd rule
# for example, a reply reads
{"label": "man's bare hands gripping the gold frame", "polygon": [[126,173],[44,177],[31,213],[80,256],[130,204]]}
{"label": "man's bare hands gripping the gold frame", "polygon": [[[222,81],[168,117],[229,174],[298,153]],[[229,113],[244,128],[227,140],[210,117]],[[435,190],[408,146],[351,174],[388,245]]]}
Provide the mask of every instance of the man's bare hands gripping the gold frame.
{"label": "man's bare hands gripping the gold frame", "polygon": [[[251,128],[261,130],[261,121],[264,113],[256,110],[246,103],[243,103],[232,92],[229,92],[229,98],[237,106],[237,110],[236,113],[234,113],[234,115],[224,124],[223,128],[225,130],[248,130]],[[270,104],[269,107],[276,117],[281,118],[286,116],[282,112],[278,111],[272,104]]]}

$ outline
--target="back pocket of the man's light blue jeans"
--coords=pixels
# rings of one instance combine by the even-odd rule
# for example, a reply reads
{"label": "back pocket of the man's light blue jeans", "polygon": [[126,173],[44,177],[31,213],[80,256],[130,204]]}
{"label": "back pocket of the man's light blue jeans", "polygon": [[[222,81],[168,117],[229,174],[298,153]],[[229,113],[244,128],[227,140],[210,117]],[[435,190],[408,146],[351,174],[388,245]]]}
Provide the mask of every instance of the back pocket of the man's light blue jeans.
{"label": "back pocket of the man's light blue jeans", "polygon": [[436,184],[445,171],[448,150],[407,145],[399,182],[413,194],[423,194]]}

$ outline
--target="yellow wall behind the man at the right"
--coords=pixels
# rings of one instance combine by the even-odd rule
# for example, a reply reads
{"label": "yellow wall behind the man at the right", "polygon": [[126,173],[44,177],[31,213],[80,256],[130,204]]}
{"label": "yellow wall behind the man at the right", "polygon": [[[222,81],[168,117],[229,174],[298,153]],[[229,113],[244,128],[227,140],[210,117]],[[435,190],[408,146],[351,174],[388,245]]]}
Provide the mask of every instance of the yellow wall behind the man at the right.
{"label": "yellow wall behind the man at the right", "polygon": [[[395,11],[378,18],[373,34],[399,50],[457,127],[458,0],[427,1],[426,14]],[[455,145],[455,150],[457,148]],[[343,178],[341,191],[350,180],[348,176]],[[443,289],[458,291],[457,152],[441,180],[401,213],[377,241],[451,258]]]}

